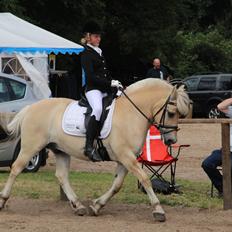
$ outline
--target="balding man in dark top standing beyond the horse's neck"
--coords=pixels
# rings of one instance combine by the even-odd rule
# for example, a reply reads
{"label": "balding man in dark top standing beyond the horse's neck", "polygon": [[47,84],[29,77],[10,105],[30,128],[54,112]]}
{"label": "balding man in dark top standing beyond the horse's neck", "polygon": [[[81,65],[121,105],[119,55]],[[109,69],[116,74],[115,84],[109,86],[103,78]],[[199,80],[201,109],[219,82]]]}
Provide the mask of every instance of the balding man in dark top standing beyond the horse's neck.
{"label": "balding man in dark top standing beyond the horse's neck", "polygon": [[170,81],[170,74],[168,73],[168,70],[161,65],[160,59],[154,58],[153,59],[153,68],[149,69],[147,72],[146,77],[150,78],[160,78],[161,80]]}

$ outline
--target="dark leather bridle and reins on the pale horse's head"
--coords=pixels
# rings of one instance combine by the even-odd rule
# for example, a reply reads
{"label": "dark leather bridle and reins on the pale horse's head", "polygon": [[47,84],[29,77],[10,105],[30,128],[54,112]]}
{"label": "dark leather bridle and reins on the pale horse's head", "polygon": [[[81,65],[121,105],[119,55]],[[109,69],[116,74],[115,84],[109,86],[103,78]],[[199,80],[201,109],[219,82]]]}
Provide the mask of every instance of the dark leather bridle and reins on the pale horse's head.
{"label": "dark leather bridle and reins on the pale horse's head", "polygon": [[[172,92],[171,94],[168,96],[167,100],[165,101],[165,103],[159,108],[159,110],[152,116],[152,118],[148,118],[141,109],[139,109],[138,106],[136,106],[136,104],[130,99],[130,97],[125,93],[125,91],[123,89],[120,89],[123,93],[123,95],[128,99],[128,101],[139,111],[140,114],[143,115],[144,118],[147,119],[147,121],[149,122],[150,125],[154,125],[158,128],[158,130],[162,130],[163,128],[164,129],[169,129],[168,131],[165,131],[165,132],[162,132],[162,134],[167,134],[167,133],[171,133],[173,131],[178,131],[178,126],[177,125],[165,125],[165,115],[166,115],[166,112],[167,112],[167,107],[168,105],[176,105],[174,102],[170,101],[171,99],[171,95],[173,93],[173,90],[174,88],[172,89]],[[161,118],[160,118],[160,121],[159,123],[157,123],[155,121],[155,117],[161,112],[162,112],[162,115],[161,115]]]}

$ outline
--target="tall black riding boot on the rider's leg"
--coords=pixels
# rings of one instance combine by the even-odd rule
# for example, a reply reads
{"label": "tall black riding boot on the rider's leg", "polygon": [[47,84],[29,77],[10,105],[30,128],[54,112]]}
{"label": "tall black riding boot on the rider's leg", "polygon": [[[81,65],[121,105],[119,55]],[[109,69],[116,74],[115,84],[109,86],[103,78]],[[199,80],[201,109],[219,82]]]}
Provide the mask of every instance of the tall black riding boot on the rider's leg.
{"label": "tall black riding boot on the rider's leg", "polygon": [[93,146],[95,138],[99,133],[99,121],[92,116],[89,120],[88,128],[86,131],[86,144],[85,144],[85,155],[88,156],[93,162],[103,161],[99,153]]}

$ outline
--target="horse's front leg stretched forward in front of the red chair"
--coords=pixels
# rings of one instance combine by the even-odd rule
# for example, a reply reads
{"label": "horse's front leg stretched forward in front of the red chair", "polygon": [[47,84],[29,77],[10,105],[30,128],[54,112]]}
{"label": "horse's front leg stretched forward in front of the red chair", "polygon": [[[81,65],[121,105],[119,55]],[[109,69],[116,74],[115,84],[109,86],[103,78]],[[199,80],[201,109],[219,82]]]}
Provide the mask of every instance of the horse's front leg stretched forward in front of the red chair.
{"label": "horse's front leg stretched forward in front of the red chair", "polygon": [[166,220],[165,212],[160,205],[159,199],[155,195],[154,190],[152,189],[151,181],[140,166],[139,162],[136,160],[135,155],[131,151],[124,151],[120,154],[120,162],[128,169],[129,172],[131,172],[134,176],[138,178],[139,182],[142,184],[145,191],[147,192],[147,195],[151,202],[151,206],[154,207],[154,210],[152,212],[153,217],[157,221],[164,222]]}

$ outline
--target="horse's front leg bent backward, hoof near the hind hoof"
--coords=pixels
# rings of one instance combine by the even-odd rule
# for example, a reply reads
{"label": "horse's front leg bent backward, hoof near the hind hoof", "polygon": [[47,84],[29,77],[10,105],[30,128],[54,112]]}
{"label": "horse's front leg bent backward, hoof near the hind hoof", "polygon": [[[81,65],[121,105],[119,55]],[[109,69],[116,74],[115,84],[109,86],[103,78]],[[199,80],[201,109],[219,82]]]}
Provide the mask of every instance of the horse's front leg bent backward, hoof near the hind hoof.
{"label": "horse's front leg bent backward, hoof near the hind hoof", "polygon": [[127,175],[127,169],[118,163],[115,173],[115,179],[111,188],[101,197],[93,201],[90,205],[90,213],[94,216],[98,215],[99,210],[121,189],[125,176]]}

